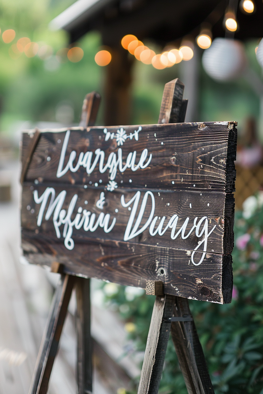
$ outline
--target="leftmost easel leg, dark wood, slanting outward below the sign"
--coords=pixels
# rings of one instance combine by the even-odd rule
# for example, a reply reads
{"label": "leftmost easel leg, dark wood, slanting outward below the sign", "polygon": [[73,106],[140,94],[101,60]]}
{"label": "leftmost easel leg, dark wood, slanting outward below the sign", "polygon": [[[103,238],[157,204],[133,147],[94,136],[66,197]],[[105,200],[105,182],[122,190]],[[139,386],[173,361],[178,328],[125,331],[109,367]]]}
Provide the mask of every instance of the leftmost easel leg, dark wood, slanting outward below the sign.
{"label": "leftmost easel leg, dark wood, slanting outward below the sign", "polygon": [[61,275],[37,356],[29,394],[46,394],[75,277]]}

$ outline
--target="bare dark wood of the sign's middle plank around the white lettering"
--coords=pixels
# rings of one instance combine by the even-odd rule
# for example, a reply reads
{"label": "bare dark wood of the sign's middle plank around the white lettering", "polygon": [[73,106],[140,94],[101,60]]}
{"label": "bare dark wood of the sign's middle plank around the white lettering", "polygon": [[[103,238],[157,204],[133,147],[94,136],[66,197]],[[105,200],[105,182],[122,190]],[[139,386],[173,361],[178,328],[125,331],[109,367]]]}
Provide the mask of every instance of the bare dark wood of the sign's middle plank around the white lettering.
{"label": "bare dark wood of the sign's middle plank around the white lettering", "polygon": [[[79,207],[88,210],[91,214],[95,214],[95,223],[99,217],[99,214],[110,214],[109,226],[111,225],[114,218],[116,218],[116,224],[113,229],[106,233],[102,227],[97,227],[95,231],[85,231],[82,225],[80,229],[73,227],[73,240],[75,243],[78,242],[89,242],[92,240],[109,240],[115,242],[122,242],[124,240],[125,230],[127,223],[131,216],[131,210],[128,207],[123,207],[121,204],[121,196],[125,198],[125,202],[128,202],[135,195],[134,190],[125,190],[124,188],[116,189],[114,192],[104,190],[103,188],[87,188],[78,186],[67,185],[55,185],[55,184],[38,184],[26,182],[24,183],[23,195],[22,195],[22,208],[21,208],[21,224],[22,233],[24,230],[37,231],[39,237],[43,235],[52,238],[56,238],[56,231],[54,223],[52,221],[53,215],[50,219],[45,220],[45,214],[47,212],[49,204],[47,204],[43,220],[40,226],[37,225],[37,217],[39,214],[41,204],[36,204],[34,201],[33,193],[37,190],[38,196],[40,197],[46,190],[46,188],[54,186],[56,191],[56,197],[63,190],[67,190],[63,209],[68,210],[69,204],[75,194],[78,195],[78,200],[75,205],[72,218],[76,217]],[[96,206],[97,201],[100,199],[101,192],[105,196],[105,204],[103,209]],[[183,223],[187,219],[188,224],[185,229],[185,236],[190,232],[194,225],[195,218],[196,223],[199,223],[202,217],[207,217],[208,220],[208,232],[215,229],[207,239],[207,249],[209,253],[231,253],[233,249],[233,213],[234,213],[234,199],[232,195],[226,195],[225,193],[209,193],[203,191],[152,191],[155,199],[155,213],[153,217],[157,216],[157,221],[154,229],[156,230],[160,224],[162,217],[165,216],[162,230],[168,225],[169,220],[173,215],[178,215],[178,222],[175,230],[176,232],[182,227]],[[140,210],[142,200],[145,195],[145,190],[142,190],[136,217]],[[87,204],[88,201],[88,204]],[[147,205],[145,207],[144,216],[142,217],[139,229],[147,222],[152,209],[151,197],[148,197]],[[117,210],[117,212],[116,212]],[[81,214],[81,218],[83,213]],[[80,219],[81,220],[81,219]],[[203,223],[203,222],[202,222]],[[61,238],[60,242],[64,242],[63,227],[60,226]],[[161,236],[157,232],[155,236],[152,236],[149,232],[150,224],[147,228],[137,236],[129,240],[130,243],[150,245],[155,247],[168,247],[172,249],[183,249],[193,251],[197,246],[198,242],[203,237],[198,238],[196,231],[193,230],[187,239],[183,239],[181,234],[174,240],[171,238],[172,229],[168,228],[166,232]],[[200,229],[202,229],[203,224]],[[162,234],[162,232],[161,232]],[[200,247],[199,250],[203,250]],[[65,247],[65,253],[67,252]]]}

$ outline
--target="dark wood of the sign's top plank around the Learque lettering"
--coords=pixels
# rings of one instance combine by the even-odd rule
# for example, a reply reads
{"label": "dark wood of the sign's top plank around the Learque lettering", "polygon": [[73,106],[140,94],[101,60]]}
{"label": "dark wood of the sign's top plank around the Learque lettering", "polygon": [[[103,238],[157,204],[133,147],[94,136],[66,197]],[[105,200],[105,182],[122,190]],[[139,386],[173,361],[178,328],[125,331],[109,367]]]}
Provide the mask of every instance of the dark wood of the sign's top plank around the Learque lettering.
{"label": "dark wood of the sign's top plank around the Learque lettering", "polygon": [[[116,134],[120,127],[108,127],[107,130]],[[140,125],[124,126],[124,130],[130,135],[139,127]],[[91,161],[93,163],[95,150],[102,149],[105,151],[105,165],[108,156],[112,152],[117,154],[119,148],[122,149],[124,163],[129,152],[136,151],[136,164],[142,151],[148,149],[147,157],[149,158],[151,153],[152,159],[145,169],[132,171],[127,168],[123,173],[117,171],[114,180],[118,188],[145,188],[146,184],[150,189],[207,189],[226,193],[234,191],[234,160],[237,143],[235,122],[146,125],[142,126],[142,130],[138,133],[138,141],[134,138],[126,139],[123,145],[119,146],[116,139],[105,141],[103,127],[69,130],[71,134],[63,168],[69,160],[71,151],[76,151],[77,158],[80,152],[93,152]],[[75,173],[67,171],[62,177],[56,177],[66,131],[67,129],[62,129],[60,132],[54,130],[41,133],[25,180],[87,184],[88,187],[94,186],[97,182],[106,187],[109,171],[107,169],[104,173],[100,173],[98,164],[91,174],[87,174],[86,168],[81,166]],[[26,156],[30,140],[29,134],[24,132],[22,158]],[[47,158],[50,160],[48,161]]]}

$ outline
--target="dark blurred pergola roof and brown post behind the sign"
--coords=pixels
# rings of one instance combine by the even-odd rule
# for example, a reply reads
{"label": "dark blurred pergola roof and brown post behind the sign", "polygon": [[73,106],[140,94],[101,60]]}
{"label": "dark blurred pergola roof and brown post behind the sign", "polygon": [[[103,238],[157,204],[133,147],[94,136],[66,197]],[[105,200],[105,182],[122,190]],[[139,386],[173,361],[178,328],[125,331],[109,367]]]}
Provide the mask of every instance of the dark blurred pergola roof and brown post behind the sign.
{"label": "dark blurred pergola roof and brown post behind the sign", "polygon": [[78,0],[50,22],[53,30],[69,33],[74,43],[91,30],[101,33],[103,45],[110,46],[112,61],[106,66],[104,123],[129,123],[130,86],[134,58],[121,45],[126,34],[141,41],[149,39],[162,47],[179,46],[181,39],[192,40],[202,27],[215,37],[225,37],[224,15],[228,8],[237,13],[239,28],[235,38],[263,36],[263,2],[254,0],[255,12],[243,13],[238,0]]}

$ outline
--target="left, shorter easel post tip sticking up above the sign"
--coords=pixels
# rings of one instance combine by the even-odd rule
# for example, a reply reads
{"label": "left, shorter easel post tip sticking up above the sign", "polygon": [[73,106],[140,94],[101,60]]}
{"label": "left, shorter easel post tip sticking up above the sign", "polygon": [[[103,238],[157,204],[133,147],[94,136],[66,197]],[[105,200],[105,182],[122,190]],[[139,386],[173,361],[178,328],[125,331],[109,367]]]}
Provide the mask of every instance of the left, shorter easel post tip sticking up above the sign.
{"label": "left, shorter easel post tip sticking up above the sign", "polygon": [[86,95],[81,112],[80,124],[81,127],[94,126],[101,96],[97,92],[91,92]]}

